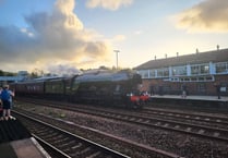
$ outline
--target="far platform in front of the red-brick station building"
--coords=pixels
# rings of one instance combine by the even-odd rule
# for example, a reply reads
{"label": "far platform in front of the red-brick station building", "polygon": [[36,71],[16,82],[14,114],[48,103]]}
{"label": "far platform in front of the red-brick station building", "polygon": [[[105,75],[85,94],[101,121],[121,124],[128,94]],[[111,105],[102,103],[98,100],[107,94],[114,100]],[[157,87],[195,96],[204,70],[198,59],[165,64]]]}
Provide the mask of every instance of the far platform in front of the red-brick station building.
{"label": "far platform in front of the red-brick station building", "polygon": [[[152,104],[159,107],[178,107],[196,110],[211,110],[213,112],[228,113],[228,97],[221,96],[187,96],[181,95],[154,95],[151,96]],[[156,105],[157,104],[157,105]]]}

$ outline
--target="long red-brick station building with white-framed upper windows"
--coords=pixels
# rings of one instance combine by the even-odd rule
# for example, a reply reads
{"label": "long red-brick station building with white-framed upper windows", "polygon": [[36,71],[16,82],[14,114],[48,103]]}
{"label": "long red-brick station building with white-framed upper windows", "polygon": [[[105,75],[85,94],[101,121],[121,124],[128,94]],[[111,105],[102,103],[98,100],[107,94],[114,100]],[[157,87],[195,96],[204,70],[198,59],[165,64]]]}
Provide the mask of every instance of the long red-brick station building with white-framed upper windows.
{"label": "long red-brick station building with white-framed upper windows", "polygon": [[228,49],[149,60],[135,68],[143,78],[142,89],[152,94],[228,96]]}

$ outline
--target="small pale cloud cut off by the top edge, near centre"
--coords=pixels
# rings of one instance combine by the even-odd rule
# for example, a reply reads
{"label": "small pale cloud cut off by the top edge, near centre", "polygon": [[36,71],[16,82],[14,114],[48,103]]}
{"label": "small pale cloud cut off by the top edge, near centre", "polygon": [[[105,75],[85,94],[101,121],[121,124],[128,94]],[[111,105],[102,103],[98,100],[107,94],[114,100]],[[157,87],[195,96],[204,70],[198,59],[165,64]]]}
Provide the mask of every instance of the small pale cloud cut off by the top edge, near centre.
{"label": "small pale cloud cut off by the top edge, near centre", "polygon": [[88,8],[104,8],[107,10],[118,10],[120,7],[130,5],[133,0],[88,0],[86,5]]}

